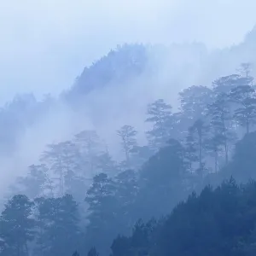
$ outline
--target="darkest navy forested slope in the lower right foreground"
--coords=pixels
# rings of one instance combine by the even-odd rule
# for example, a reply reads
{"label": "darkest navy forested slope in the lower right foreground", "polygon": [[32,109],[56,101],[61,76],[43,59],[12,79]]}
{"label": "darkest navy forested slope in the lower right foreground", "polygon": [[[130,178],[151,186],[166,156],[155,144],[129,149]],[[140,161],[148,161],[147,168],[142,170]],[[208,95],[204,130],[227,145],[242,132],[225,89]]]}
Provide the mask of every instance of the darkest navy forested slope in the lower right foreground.
{"label": "darkest navy forested slope in the lower right foreground", "polygon": [[232,178],[207,186],[165,218],[139,220],[131,236],[113,241],[111,255],[255,255],[255,193],[255,182]]}

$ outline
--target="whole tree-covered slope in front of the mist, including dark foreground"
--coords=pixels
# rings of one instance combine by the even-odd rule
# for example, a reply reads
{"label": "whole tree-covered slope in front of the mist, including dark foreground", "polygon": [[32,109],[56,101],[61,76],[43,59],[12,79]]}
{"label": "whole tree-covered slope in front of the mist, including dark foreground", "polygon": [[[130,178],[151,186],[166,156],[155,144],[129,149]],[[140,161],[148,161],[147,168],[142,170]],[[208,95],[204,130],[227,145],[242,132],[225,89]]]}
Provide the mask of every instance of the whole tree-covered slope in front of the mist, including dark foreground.
{"label": "whole tree-covered slope in front of the mist, including dark foreground", "polygon": [[93,130],[49,144],[10,187],[0,255],[253,255],[251,67],[182,90],[178,111],[148,104],[148,143],[116,131],[122,160]]}

